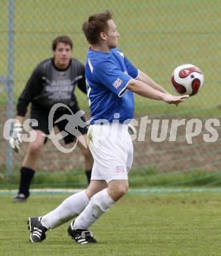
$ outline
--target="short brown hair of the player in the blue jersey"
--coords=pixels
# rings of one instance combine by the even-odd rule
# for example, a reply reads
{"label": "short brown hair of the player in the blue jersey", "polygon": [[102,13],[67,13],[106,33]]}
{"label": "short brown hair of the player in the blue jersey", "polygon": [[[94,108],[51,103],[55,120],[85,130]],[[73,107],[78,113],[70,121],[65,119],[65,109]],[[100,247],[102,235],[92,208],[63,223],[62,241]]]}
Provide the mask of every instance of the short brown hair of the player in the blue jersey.
{"label": "short brown hair of the player in the blue jersey", "polygon": [[90,15],[88,21],[84,22],[82,31],[88,43],[95,44],[99,41],[101,32],[107,31],[107,21],[112,19],[112,12],[105,11]]}

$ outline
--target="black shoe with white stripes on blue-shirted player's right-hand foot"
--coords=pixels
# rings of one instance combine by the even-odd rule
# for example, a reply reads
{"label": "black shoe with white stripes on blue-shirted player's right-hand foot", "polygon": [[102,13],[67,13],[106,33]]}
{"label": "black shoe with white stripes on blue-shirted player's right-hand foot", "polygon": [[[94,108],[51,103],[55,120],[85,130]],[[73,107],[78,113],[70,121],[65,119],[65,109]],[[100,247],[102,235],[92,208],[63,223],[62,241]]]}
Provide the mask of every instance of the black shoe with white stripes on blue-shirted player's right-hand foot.
{"label": "black shoe with white stripes on blue-shirted player's right-hand foot", "polygon": [[88,229],[74,229],[74,222],[72,221],[67,232],[69,235],[75,239],[78,244],[95,244],[97,241],[95,240],[93,233]]}

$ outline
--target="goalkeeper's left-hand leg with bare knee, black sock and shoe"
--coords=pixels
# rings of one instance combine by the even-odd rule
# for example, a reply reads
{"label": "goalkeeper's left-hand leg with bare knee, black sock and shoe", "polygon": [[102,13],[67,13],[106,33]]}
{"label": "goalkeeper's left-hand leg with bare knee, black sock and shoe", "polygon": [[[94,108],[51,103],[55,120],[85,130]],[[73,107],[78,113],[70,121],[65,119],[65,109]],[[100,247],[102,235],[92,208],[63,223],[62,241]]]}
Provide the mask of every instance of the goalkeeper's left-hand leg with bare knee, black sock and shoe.
{"label": "goalkeeper's left-hand leg with bare knee, black sock and shoe", "polygon": [[16,195],[13,200],[15,203],[25,202],[29,196],[29,187],[31,180],[35,175],[37,158],[39,157],[42,145],[44,144],[45,137],[43,136],[44,133],[42,131],[31,131],[31,136],[32,133],[36,133],[36,139],[33,142],[29,142],[29,147],[20,169],[20,184],[18,195]]}

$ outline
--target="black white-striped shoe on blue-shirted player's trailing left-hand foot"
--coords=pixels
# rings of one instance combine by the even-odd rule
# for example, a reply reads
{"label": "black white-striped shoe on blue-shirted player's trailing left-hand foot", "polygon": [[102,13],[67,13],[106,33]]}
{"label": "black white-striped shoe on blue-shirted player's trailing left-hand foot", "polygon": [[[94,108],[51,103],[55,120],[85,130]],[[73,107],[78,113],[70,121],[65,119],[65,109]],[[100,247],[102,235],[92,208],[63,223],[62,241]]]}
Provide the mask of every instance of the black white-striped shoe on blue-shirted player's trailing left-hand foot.
{"label": "black white-striped shoe on blue-shirted player's trailing left-hand foot", "polygon": [[29,241],[33,243],[42,242],[45,238],[47,228],[42,226],[41,217],[29,217],[27,221],[27,228],[30,230]]}

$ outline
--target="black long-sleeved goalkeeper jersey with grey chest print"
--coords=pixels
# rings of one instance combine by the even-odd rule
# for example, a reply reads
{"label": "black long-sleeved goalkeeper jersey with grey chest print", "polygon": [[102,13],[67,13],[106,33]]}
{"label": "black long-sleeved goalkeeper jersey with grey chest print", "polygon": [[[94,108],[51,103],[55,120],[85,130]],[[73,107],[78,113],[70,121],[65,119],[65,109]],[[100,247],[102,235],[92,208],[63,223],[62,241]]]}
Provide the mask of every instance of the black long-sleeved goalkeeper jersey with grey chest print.
{"label": "black long-sleeved goalkeeper jersey with grey chest print", "polygon": [[74,93],[76,86],[86,93],[84,64],[72,58],[65,70],[59,70],[54,65],[54,58],[44,60],[33,70],[18,99],[17,115],[25,116],[30,102],[32,111],[41,108],[49,112],[56,103],[78,108]]}

